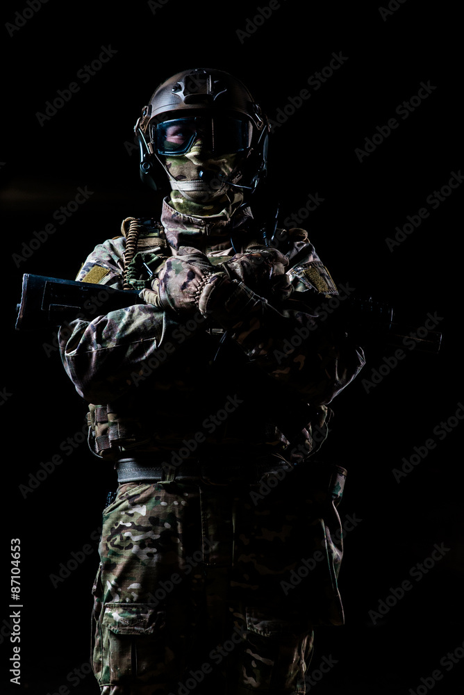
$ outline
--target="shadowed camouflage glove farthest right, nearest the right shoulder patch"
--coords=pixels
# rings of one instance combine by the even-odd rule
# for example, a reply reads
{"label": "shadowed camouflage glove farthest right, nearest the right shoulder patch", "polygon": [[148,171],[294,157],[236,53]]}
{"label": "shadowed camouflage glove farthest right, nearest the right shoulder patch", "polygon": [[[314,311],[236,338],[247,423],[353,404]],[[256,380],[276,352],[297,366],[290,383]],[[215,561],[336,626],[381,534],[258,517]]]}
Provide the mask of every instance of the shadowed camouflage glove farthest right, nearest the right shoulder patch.
{"label": "shadowed camouflage glove farthest right, nearest the right shoulder patch", "polygon": [[231,279],[242,281],[258,295],[267,299],[283,300],[292,293],[292,286],[285,269],[288,258],[274,248],[256,250],[247,254],[237,254],[230,261],[222,263]]}

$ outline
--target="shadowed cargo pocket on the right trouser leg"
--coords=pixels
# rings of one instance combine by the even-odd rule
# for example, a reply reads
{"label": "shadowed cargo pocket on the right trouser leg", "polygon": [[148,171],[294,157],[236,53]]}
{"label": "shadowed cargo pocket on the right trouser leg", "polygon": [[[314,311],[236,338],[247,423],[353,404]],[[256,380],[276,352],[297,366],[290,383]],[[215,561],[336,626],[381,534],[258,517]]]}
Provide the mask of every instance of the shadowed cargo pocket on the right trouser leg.
{"label": "shadowed cargo pocket on the right trouser leg", "polygon": [[[256,692],[304,692],[313,627],[297,614],[285,619],[247,607],[240,685]],[[241,691],[240,691],[241,692]]]}

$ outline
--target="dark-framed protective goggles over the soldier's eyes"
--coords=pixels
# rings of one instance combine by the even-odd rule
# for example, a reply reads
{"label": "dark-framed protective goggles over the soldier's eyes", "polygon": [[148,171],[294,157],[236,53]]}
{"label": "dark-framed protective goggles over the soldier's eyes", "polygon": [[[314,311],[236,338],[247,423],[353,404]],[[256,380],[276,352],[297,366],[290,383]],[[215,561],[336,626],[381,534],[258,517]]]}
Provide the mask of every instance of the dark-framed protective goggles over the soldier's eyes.
{"label": "dark-framed protective goggles over the soldier's eyes", "polygon": [[165,156],[179,156],[201,140],[212,154],[243,152],[251,145],[249,123],[233,116],[173,118],[151,126],[155,151]]}

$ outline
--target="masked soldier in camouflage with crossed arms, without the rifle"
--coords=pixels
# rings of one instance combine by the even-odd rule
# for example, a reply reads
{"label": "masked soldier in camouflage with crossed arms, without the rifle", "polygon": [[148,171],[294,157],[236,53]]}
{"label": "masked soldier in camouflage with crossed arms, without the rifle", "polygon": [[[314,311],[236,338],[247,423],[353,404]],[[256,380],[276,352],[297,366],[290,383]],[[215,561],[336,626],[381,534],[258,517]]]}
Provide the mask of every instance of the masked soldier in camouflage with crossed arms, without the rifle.
{"label": "masked soldier in camouflage with crossed arms, without the rifle", "polygon": [[92,450],[118,480],[94,674],[103,695],[304,693],[314,626],[343,623],[346,471],[313,454],[363,351],[322,309],[342,302],[306,231],[275,229],[272,201],[258,205],[269,126],[245,85],[176,74],[135,131],[142,179],[156,187],[164,169],[171,193],[77,279],[144,303],[60,336]]}

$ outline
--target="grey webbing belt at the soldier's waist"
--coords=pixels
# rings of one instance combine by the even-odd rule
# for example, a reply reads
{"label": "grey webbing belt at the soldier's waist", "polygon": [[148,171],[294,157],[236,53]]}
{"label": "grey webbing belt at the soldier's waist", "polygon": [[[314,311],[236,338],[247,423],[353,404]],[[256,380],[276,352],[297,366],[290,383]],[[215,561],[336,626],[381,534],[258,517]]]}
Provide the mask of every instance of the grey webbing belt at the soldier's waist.
{"label": "grey webbing belt at the soldier's waist", "polygon": [[180,466],[170,465],[150,465],[143,460],[124,458],[115,463],[117,471],[117,482],[153,481],[168,483],[176,481],[203,481],[215,485],[228,485],[231,482],[246,482],[249,484],[257,483],[264,476],[276,475],[282,478],[285,473],[290,473],[294,466],[283,459],[270,461],[250,461],[247,465],[218,463],[212,461],[189,460]]}

